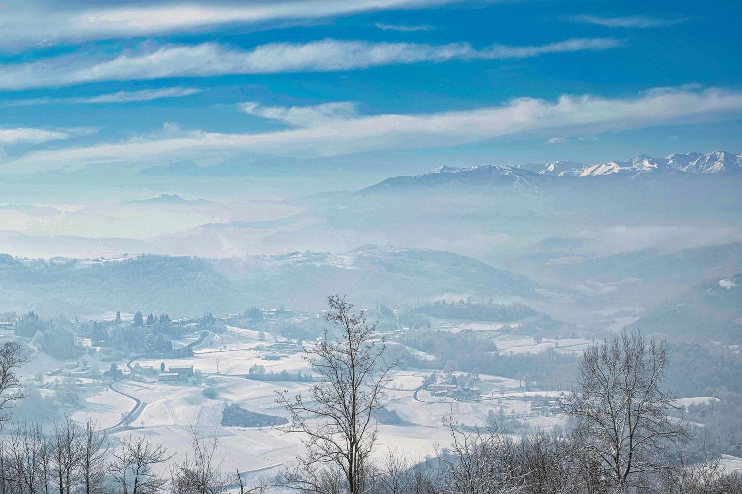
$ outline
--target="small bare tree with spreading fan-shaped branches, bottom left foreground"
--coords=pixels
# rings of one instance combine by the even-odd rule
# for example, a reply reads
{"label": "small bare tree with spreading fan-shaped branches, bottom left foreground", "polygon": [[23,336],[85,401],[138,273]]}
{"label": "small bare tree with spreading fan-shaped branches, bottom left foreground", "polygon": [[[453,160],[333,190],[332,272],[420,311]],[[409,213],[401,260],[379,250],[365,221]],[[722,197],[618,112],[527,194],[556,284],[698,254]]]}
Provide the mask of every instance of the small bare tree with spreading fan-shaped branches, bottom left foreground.
{"label": "small bare tree with spreading fan-shaped branches, bottom left foreground", "polygon": [[112,456],[109,472],[120,494],[157,494],[167,486],[168,479],[159,469],[172,456],[162,445],[143,435],[130,435]]}

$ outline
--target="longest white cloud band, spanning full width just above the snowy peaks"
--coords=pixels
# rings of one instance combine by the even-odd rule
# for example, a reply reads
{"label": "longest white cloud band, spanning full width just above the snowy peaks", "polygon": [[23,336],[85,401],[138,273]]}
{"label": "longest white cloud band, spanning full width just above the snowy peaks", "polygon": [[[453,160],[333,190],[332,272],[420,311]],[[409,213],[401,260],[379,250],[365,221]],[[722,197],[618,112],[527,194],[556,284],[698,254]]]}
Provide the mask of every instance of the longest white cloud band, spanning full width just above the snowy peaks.
{"label": "longest white cloud band, spanning full width just above the snowy peaks", "polygon": [[330,119],[310,127],[266,133],[188,131],[114,144],[36,151],[0,165],[0,174],[85,167],[102,161],[152,162],[161,155],[209,158],[226,153],[338,156],[370,150],[421,149],[512,136],[582,136],[663,124],[718,121],[742,113],[742,91],[661,88],[633,98],[520,98],[494,107],[416,115]]}

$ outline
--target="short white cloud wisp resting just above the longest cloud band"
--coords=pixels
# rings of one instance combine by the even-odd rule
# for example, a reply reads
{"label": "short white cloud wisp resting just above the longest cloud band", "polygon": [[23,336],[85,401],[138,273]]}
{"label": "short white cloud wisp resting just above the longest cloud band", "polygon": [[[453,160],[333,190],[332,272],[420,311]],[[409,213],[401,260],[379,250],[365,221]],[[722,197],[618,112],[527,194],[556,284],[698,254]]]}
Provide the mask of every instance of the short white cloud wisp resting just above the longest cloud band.
{"label": "short white cloud wisp resting just above the longest cloud band", "polygon": [[240,110],[248,115],[300,127],[310,127],[326,121],[358,116],[355,104],[349,101],[315,104],[307,107],[266,107],[255,101],[246,101],[240,103]]}

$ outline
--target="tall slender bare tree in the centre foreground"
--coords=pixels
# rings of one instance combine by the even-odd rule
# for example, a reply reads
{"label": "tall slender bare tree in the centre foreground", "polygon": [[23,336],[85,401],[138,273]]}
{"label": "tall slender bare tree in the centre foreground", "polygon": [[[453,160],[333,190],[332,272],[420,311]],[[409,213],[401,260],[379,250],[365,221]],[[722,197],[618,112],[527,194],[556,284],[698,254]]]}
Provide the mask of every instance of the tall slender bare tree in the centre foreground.
{"label": "tall slender bare tree in the centre foreground", "polygon": [[[286,484],[309,492],[364,493],[370,489],[370,455],[377,444],[378,427],[372,418],[381,408],[382,387],[398,362],[384,360],[384,338],[364,312],[352,313],[345,298],[328,298],[332,323],[321,344],[306,347],[304,359],[320,374],[309,390],[290,398],[278,393],[291,422],[284,432],[306,434],[306,456],[285,473]],[[332,338],[332,341],[329,339]]]}

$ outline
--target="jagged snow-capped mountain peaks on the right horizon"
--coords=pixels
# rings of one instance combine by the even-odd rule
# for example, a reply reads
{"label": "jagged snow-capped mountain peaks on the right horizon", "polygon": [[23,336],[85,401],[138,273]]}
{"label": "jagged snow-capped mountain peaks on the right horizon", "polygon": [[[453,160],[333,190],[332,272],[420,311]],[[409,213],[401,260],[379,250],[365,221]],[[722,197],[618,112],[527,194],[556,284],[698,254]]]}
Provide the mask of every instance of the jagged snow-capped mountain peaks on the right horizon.
{"label": "jagged snow-capped mountain peaks on the right horizon", "polygon": [[729,173],[742,171],[742,155],[736,156],[726,151],[713,153],[674,153],[665,158],[640,155],[628,161],[609,161],[608,163],[584,164],[575,161],[554,161],[554,163],[526,164],[516,167],[539,175],[552,176],[605,176],[640,175],[653,172],[674,173]]}

